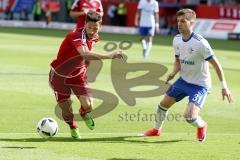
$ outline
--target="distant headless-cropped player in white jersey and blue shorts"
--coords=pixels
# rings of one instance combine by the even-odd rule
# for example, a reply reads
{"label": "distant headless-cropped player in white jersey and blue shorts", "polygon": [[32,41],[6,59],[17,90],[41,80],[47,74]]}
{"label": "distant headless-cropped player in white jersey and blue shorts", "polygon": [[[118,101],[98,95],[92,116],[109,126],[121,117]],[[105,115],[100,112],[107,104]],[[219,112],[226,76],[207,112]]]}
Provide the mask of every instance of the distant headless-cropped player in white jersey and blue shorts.
{"label": "distant headless-cropped player in white jersey and blue shorts", "polygon": [[159,33],[159,7],[156,0],[140,0],[135,17],[135,25],[139,27],[143,57],[146,59],[152,48],[154,32]]}

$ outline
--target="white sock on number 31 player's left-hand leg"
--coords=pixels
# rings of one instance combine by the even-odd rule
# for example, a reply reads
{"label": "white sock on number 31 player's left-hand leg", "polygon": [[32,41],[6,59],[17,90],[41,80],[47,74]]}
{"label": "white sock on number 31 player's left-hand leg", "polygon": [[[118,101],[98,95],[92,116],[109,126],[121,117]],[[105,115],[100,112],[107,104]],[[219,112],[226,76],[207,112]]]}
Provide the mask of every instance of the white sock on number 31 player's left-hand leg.
{"label": "white sock on number 31 player's left-hand leg", "polygon": [[168,109],[158,105],[157,110],[155,112],[155,119],[154,119],[154,128],[160,130],[164,123],[164,120],[167,117]]}

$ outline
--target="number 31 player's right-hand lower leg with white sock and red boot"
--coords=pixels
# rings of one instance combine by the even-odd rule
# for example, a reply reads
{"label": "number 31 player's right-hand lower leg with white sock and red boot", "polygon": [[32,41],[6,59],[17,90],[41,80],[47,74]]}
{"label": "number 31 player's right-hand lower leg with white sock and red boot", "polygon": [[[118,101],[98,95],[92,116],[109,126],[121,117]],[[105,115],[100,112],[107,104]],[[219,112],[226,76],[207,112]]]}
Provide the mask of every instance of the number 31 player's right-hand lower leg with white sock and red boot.
{"label": "number 31 player's right-hand lower leg with white sock and red boot", "polygon": [[194,103],[188,103],[183,116],[189,124],[197,127],[197,140],[203,142],[206,139],[207,123],[199,116],[200,110]]}

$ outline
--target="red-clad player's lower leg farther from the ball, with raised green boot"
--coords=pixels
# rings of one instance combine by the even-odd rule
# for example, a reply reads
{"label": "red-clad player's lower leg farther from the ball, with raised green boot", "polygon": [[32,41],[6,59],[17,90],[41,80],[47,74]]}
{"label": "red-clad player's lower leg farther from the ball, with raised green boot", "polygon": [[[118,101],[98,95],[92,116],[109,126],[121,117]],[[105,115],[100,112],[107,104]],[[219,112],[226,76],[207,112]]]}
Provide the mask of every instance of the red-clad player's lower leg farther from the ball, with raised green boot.
{"label": "red-clad player's lower leg farther from the ball, with raised green boot", "polygon": [[89,95],[81,95],[78,97],[78,99],[81,103],[81,108],[79,110],[80,115],[82,116],[87,127],[93,130],[95,126],[94,121],[89,115],[89,113],[92,111],[92,104],[93,104],[92,97],[90,97]]}

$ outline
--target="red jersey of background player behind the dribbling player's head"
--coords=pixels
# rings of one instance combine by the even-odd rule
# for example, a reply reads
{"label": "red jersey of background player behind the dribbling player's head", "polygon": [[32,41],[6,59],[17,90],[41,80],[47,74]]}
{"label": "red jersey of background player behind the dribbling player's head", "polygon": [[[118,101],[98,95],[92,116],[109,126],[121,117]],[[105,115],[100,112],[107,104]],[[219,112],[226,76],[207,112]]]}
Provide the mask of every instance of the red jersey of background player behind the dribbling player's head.
{"label": "red jersey of background player behind the dribbling player's head", "polygon": [[[93,10],[95,12],[103,12],[101,0],[75,0],[71,11],[84,12]],[[86,15],[77,17],[77,28],[84,27]]]}

